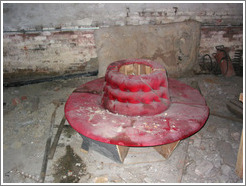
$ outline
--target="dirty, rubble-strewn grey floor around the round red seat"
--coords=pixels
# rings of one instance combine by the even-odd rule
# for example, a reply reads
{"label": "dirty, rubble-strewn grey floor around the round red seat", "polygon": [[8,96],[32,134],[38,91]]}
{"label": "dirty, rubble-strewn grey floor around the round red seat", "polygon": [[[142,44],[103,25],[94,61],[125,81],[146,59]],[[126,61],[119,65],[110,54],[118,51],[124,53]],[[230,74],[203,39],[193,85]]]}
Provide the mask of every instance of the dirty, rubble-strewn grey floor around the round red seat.
{"label": "dirty, rubble-strewn grey floor around the round red seat", "polygon": [[[46,140],[54,138],[67,98],[76,87],[96,78],[3,88],[3,183],[41,182]],[[210,116],[199,132],[181,140],[169,159],[152,147],[130,148],[123,164],[97,151],[84,152],[81,136],[66,121],[44,182],[243,183],[235,173],[243,120],[226,106],[243,92],[243,78],[199,75],[179,80],[191,86],[198,83]]]}

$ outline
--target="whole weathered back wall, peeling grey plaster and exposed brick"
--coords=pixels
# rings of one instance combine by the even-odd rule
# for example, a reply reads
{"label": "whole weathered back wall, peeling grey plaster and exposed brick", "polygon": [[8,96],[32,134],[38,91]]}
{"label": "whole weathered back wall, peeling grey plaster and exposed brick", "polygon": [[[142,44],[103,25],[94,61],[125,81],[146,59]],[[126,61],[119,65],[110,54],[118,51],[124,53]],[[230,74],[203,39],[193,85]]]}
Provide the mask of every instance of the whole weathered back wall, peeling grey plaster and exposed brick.
{"label": "whole weathered back wall, peeling grey plaster and exposed brick", "polygon": [[231,47],[232,53],[242,48],[242,3],[4,3],[4,76],[97,68],[95,30],[87,28],[189,19],[201,22],[198,60],[216,45]]}

